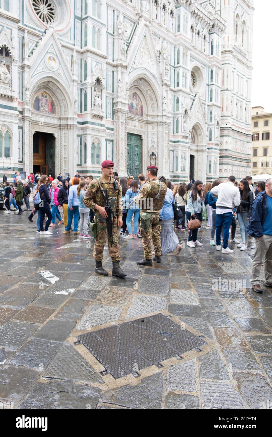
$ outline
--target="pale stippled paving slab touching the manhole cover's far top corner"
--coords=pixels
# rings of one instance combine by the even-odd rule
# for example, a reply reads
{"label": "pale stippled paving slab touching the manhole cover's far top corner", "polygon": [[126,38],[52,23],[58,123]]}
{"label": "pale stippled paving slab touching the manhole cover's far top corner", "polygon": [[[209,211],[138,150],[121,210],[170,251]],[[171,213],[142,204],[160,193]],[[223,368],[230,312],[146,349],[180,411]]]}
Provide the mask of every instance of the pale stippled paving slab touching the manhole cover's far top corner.
{"label": "pale stippled paving slab touching the manhole cover's far top corner", "polygon": [[131,306],[127,310],[126,319],[131,319],[137,316],[144,316],[152,312],[166,309],[167,299],[158,296],[142,296],[136,295],[133,297]]}

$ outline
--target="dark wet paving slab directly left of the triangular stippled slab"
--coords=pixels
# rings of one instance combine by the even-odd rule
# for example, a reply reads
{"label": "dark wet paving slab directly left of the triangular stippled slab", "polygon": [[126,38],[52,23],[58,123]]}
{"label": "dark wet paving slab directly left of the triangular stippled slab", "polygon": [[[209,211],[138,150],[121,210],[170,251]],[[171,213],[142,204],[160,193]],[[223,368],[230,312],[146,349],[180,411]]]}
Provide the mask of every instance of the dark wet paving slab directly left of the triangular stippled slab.
{"label": "dark wet paving slab directly left of the triangular stippled slab", "polygon": [[32,339],[18,352],[11,363],[42,371],[61,347],[61,342]]}

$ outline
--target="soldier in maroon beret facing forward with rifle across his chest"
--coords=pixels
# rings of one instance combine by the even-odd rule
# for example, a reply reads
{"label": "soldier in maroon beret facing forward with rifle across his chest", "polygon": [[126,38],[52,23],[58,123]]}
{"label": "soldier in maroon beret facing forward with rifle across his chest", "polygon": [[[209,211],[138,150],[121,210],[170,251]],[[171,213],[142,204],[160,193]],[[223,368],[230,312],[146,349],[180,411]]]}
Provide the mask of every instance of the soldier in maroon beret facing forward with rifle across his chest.
{"label": "soldier in maroon beret facing forward with rifle across his chest", "polygon": [[124,277],[127,276],[120,268],[120,255],[119,255],[119,244],[118,244],[118,238],[119,238],[119,229],[121,228],[123,222],[122,222],[122,189],[120,185],[118,186],[118,189],[114,189],[114,178],[113,170],[114,170],[114,163],[112,161],[106,160],[103,161],[101,164],[102,168],[102,176],[100,176],[98,179],[92,180],[90,184],[88,185],[88,188],[86,190],[85,197],[83,199],[84,205],[86,205],[87,208],[92,209],[95,212],[94,220],[96,222],[96,240],[93,248],[93,257],[96,260],[96,267],[95,271],[98,274],[101,274],[103,276],[107,276],[108,272],[107,270],[103,269],[102,260],[103,260],[103,250],[104,246],[106,244],[106,217],[107,212],[105,210],[105,198],[103,197],[103,194],[101,193],[102,190],[107,190],[108,192],[108,198],[111,203],[111,208],[114,211],[114,221],[112,222],[112,233],[113,233],[113,240],[114,243],[112,247],[110,247],[110,237],[108,237],[108,247],[109,247],[109,255],[111,257],[112,263],[113,263],[113,270],[112,275],[113,276],[120,276]]}

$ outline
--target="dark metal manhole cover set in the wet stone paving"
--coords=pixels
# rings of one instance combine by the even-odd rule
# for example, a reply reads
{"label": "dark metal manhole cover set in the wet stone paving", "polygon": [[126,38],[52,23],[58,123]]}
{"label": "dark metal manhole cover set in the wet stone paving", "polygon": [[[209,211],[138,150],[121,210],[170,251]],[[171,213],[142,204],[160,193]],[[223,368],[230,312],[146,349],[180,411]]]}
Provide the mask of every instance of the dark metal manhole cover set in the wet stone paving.
{"label": "dark metal manhole cover set in the wet stone paving", "polygon": [[78,336],[115,379],[206,344],[159,313]]}

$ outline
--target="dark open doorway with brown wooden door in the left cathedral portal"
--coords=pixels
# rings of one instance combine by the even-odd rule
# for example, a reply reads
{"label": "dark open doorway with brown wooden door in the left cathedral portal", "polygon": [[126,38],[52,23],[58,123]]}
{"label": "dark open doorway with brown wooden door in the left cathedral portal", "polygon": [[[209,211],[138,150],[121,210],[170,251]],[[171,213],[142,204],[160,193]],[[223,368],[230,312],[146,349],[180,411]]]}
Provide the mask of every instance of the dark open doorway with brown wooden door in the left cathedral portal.
{"label": "dark open doorway with brown wooden door in the left cathedral portal", "polygon": [[55,178],[55,137],[45,132],[33,135],[33,171]]}

